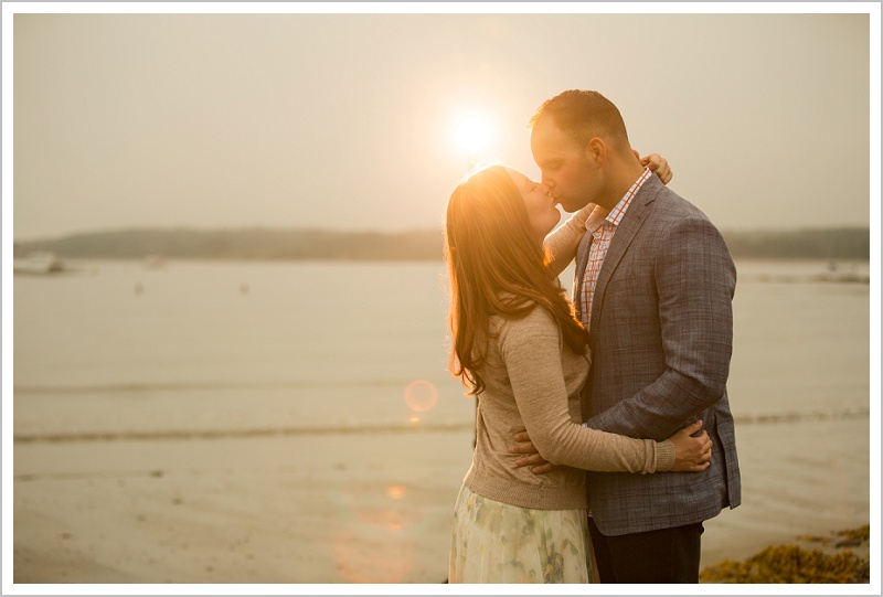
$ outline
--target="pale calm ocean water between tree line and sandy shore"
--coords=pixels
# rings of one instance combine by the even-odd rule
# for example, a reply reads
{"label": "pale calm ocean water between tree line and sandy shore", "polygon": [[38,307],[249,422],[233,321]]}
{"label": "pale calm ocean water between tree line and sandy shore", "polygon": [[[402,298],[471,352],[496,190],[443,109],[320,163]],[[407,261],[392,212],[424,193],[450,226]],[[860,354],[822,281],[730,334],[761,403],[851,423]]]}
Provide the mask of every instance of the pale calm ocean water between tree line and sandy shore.
{"label": "pale calm ocean water between tree line and sandy shore", "polygon": [[[19,439],[471,427],[440,262],[78,265],[13,279]],[[868,264],[736,266],[737,422],[866,417]]]}

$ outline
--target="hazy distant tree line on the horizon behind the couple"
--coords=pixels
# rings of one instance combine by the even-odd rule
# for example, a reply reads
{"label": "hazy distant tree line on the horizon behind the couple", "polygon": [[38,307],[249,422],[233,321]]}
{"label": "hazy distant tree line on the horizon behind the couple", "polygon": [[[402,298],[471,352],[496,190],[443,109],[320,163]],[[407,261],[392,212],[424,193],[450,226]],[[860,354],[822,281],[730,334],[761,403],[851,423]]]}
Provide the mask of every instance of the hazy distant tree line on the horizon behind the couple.
{"label": "hazy distant tree line on the horizon behind the couple", "polygon": [[[723,231],[734,258],[868,260],[866,227]],[[350,259],[433,260],[443,255],[438,230],[400,233],[284,228],[132,228],[17,242],[14,256],[38,250],[82,259]]]}

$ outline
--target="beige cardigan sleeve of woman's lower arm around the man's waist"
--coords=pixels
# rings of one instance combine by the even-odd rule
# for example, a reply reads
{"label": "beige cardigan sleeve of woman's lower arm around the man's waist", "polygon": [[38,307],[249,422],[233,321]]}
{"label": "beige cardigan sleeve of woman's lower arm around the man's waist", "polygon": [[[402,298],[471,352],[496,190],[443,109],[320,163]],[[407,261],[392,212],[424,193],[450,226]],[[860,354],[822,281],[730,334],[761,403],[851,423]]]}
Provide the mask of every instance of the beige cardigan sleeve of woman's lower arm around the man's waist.
{"label": "beige cardigan sleeve of woman's lower arm around the man's waist", "polygon": [[596,471],[671,470],[674,445],[670,440],[634,439],[583,427],[571,419],[561,334],[544,308],[535,307],[522,319],[507,320],[498,340],[519,414],[545,460]]}

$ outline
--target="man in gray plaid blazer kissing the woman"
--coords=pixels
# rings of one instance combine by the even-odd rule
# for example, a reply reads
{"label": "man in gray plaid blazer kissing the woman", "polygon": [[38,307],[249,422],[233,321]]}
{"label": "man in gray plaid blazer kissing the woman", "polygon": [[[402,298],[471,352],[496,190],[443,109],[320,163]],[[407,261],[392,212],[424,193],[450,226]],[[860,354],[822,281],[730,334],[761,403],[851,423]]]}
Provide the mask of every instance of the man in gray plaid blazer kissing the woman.
{"label": "man in gray plaid blazer kissing the woman", "polygon": [[[698,583],[703,521],[741,502],[726,395],[735,267],[719,231],[639,162],[619,110],[568,90],[531,118],[542,182],[568,212],[597,207],[576,256],[573,299],[588,330],[588,427],[664,439],[696,419],[714,448],[703,472],[587,472],[602,583]],[[517,436],[518,440],[526,435]],[[536,451],[521,444],[512,451]],[[540,465],[539,456],[519,466]]]}

